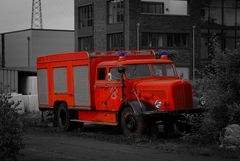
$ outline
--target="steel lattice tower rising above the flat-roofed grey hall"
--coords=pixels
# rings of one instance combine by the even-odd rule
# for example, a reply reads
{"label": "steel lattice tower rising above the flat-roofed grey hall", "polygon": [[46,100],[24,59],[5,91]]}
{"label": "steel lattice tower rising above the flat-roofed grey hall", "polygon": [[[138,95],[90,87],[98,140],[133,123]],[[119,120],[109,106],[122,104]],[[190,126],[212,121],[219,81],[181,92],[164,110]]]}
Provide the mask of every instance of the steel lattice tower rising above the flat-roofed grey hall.
{"label": "steel lattice tower rising above the flat-roofed grey hall", "polygon": [[32,0],[31,29],[42,29],[42,4],[41,0]]}

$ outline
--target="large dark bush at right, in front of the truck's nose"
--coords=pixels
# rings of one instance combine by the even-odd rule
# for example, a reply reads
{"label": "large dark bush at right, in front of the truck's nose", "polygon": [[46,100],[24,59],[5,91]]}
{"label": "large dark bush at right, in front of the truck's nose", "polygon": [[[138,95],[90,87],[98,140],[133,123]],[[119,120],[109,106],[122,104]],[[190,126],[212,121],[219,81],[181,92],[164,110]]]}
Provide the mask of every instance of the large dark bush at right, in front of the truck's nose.
{"label": "large dark bush at right, in front of the truck's nose", "polygon": [[[214,42],[214,41],[213,41]],[[198,130],[190,140],[217,143],[220,132],[229,124],[240,124],[240,48],[221,51],[217,43],[211,63],[199,71],[194,92],[206,99],[207,111],[195,124]]]}

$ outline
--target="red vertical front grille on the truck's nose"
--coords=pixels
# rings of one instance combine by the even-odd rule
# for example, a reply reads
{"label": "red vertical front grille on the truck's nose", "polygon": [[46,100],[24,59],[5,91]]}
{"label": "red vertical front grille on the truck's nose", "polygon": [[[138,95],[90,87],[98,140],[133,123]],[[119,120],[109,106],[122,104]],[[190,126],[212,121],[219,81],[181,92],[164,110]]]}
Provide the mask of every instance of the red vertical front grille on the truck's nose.
{"label": "red vertical front grille on the truck's nose", "polygon": [[193,107],[192,88],[190,84],[175,85],[173,87],[174,106],[176,110]]}

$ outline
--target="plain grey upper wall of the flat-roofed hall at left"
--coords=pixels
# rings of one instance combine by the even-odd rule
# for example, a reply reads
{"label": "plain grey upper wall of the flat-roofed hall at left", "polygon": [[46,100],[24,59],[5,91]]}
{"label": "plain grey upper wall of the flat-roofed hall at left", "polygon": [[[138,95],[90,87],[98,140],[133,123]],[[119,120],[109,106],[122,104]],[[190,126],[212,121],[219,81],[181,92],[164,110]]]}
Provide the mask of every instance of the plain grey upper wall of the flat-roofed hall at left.
{"label": "plain grey upper wall of the flat-roofed hall at left", "polygon": [[5,34],[6,67],[35,67],[36,58],[74,51],[74,32],[25,30]]}

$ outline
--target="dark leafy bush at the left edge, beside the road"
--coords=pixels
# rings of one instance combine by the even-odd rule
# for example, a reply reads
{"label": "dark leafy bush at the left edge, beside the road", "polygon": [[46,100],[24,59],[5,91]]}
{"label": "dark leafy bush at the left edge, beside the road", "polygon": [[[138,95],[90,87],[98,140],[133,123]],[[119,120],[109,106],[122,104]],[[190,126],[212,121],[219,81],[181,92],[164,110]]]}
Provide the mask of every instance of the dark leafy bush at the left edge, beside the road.
{"label": "dark leafy bush at the left edge, beside the road", "polygon": [[9,101],[9,94],[0,94],[0,160],[16,160],[22,149],[22,123],[17,113],[18,102]]}

